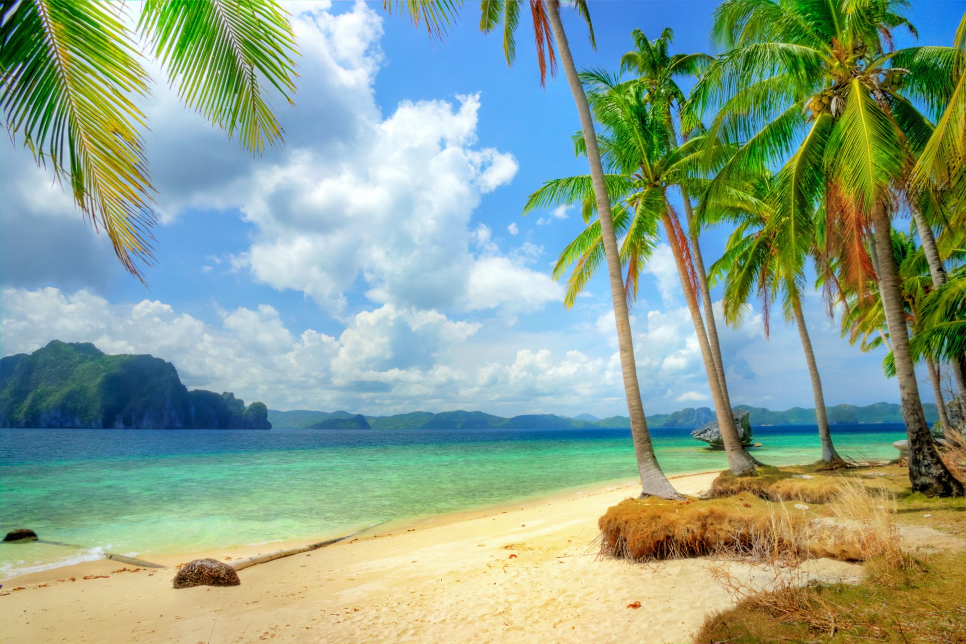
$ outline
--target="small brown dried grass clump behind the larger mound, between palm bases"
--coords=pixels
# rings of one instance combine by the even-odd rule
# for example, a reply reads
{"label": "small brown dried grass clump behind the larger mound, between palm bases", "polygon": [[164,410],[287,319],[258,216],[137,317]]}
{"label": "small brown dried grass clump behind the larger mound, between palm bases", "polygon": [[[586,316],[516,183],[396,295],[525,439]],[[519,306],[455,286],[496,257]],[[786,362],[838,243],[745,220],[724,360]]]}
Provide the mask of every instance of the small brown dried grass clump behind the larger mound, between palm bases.
{"label": "small brown dried grass clump behind the larger mound, between palm bases", "polygon": [[708,495],[712,498],[754,494],[767,501],[803,501],[805,503],[828,503],[838,496],[838,475],[806,474],[778,467],[761,467],[753,476],[735,476],[725,470],[711,484]]}

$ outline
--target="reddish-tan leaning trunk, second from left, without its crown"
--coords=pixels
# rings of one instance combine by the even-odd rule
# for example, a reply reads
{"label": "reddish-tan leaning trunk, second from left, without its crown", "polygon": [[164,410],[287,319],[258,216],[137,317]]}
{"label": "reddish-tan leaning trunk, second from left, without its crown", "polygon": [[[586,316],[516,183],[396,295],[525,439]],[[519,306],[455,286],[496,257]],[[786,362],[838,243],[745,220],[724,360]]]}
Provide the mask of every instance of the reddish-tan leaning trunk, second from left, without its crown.
{"label": "reddish-tan leaning trunk, second from left, without its crown", "polygon": [[681,291],[684,292],[684,299],[688,303],[691,321],[695,324],[697,346],[700,347],[701,357],[704,360],[704,371],[707,373],[708,385],[711,389],[711,400],[715,406],[715,415],[718,416],[718,427],[721,430],[722,440],[725,443],[728,467],[731,469],[731,473],[736,476],[753,473],[755,464],[759,463],[753,460],[748,450],[741,444],[741,437],[738,435],[738,428],[735,427],[731,408],[725,405],[725,395],[722,393],[721,386],[717,386],[718,373],[715,371],[714,360],[711,358],[711,345],[708,342],[707,334],[704,332],[701,311],[697,308],[697,298],[691,288],[691,281],[688,279],[688,270],[684,264],[684,253],[681,251],[681,247],[678,245],[677,238],[674,235],[674,225],[667,212],[661,217],[661,221],[668,234],[671,253],[674,255],[674,264],[677,265],[677,274],[681,278]]}

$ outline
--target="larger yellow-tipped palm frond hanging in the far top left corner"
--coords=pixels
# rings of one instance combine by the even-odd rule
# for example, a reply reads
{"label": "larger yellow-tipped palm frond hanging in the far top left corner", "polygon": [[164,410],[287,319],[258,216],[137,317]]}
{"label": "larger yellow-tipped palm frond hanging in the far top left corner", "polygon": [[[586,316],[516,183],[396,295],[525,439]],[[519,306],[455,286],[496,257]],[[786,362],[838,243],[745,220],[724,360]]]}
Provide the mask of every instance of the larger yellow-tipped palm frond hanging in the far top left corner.
{"label": "larger yellow-tipped palm frond hanging in the far top left corner", "polygon": [[153,187],[131,101],[147,74],[118,5],[4,2],[0,105],[14,138],[71,183],[74,202],[111,238],[121,263],[152,260]]}

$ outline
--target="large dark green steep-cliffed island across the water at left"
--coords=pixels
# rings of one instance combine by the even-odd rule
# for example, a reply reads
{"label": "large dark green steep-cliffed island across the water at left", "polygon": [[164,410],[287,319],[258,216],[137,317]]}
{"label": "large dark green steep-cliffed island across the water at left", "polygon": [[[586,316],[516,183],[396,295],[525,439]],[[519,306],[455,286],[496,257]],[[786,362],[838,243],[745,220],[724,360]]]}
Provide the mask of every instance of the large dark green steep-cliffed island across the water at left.
{"label": "large dark green steep-cliffed island across the water at left", "polygon": [[0,359],[0,427],[269,430],[269,409],[188,391],[170,362],[54,340]]}

